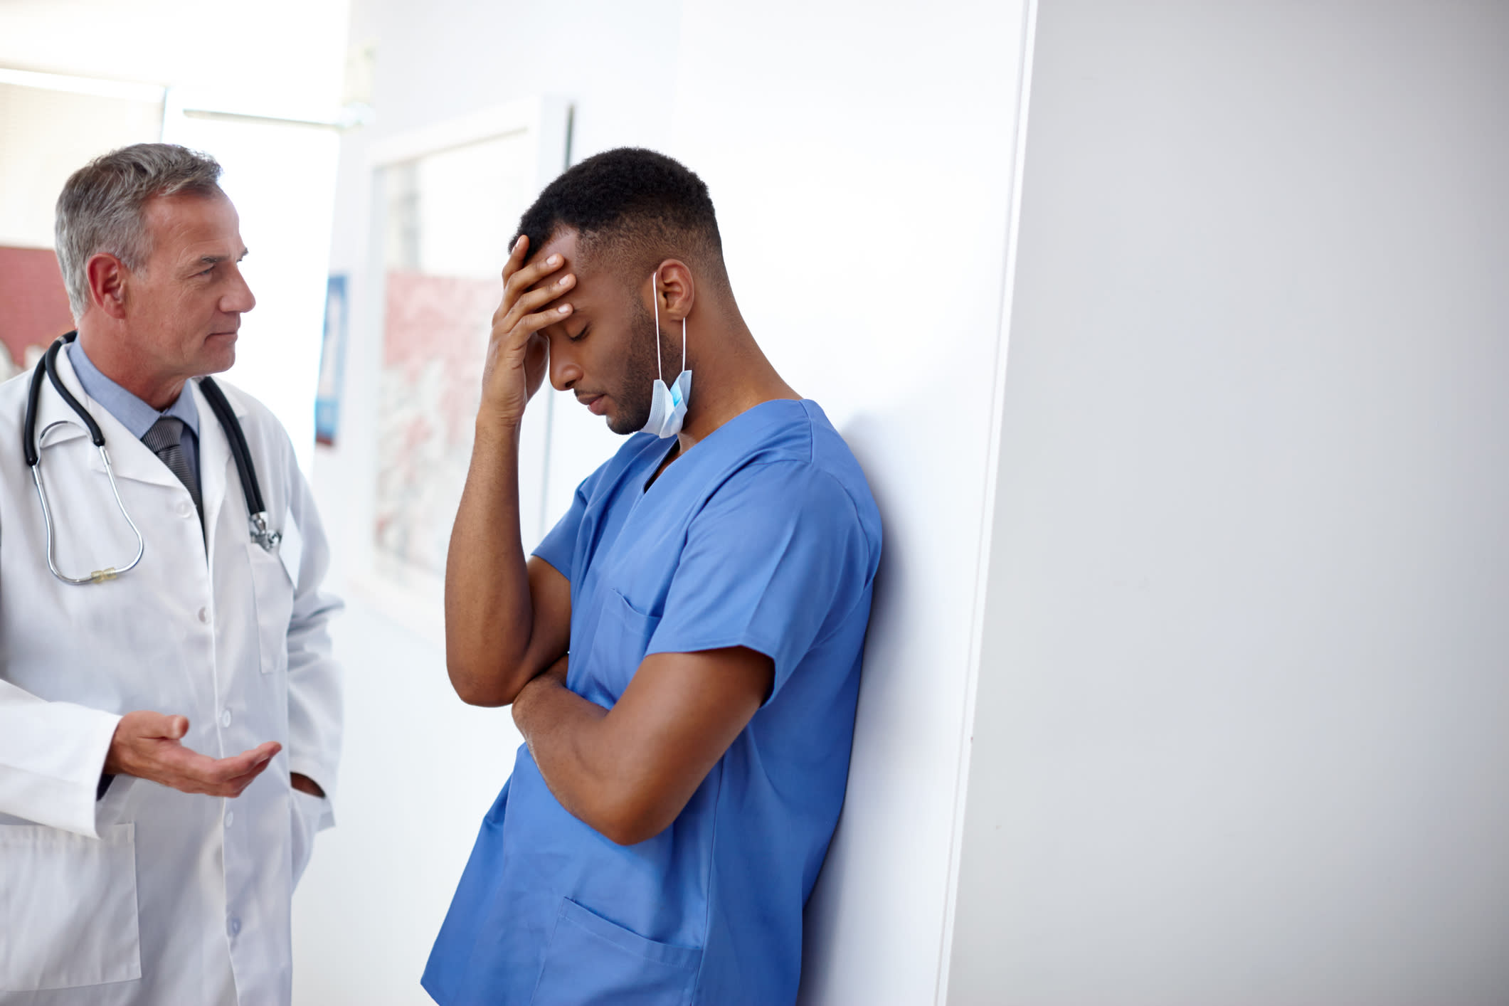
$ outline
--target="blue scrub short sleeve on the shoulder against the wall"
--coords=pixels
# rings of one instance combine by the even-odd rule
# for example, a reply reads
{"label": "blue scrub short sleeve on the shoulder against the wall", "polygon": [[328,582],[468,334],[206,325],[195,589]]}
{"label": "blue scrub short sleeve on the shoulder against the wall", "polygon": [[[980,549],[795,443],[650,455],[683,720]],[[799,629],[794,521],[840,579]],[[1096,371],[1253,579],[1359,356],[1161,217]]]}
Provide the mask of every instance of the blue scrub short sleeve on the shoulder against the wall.
{"label": "blue scrub short sleeve on the shoulder against the wall", "polygon": [[795,462],[750,465],[693,519],[647,653],[748,647],[774,661],[774,697],[868,596],[869,567],[837,480]]}

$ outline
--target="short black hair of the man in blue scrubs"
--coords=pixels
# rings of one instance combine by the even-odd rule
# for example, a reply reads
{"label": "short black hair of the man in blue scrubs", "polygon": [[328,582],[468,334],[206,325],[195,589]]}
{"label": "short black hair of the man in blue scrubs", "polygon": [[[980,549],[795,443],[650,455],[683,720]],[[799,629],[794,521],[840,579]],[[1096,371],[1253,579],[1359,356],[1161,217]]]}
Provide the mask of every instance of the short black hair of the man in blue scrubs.
{"label": "short black hair of the man in blue scrubs", "polygon": [[566,228],[576,231],[585,256],[622,268],[628,282],[667,258],[681,258],[727,288],[708,186],[664,154],[640,146],[593,154],[546,186],[519,219],[531,256]]}

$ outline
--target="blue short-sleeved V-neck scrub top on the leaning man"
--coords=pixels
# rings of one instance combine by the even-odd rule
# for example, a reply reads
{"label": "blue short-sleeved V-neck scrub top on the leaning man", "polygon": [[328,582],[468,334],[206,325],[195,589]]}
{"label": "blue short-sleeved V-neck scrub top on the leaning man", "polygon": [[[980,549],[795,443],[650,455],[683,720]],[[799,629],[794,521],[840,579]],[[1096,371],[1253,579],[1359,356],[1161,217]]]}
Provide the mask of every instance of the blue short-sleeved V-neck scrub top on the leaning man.
{"label": "blue short-sleeved V-neck scrub top on the leaning man", "polygon": [[536,555],[570,581],[567,686],[611,707],[649,653],[744,646],[765,704],[661,834],[572,817],[521,747],[430,953],[444,1006],[797,997],[801,909],[837,824],[880,514],[813,401],[762,403],[672,463],[631,437]]}

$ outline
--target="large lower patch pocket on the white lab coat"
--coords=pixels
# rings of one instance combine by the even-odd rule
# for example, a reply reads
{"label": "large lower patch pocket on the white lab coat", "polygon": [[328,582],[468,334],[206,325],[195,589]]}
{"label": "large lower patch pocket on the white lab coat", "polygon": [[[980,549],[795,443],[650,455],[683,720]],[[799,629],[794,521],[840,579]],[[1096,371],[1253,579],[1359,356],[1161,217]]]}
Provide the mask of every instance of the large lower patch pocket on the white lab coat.
{"label": "large lower patch pocket on the white lab coat", "polygon": [[139,977],[136,825],[0,825],[0,991]]}

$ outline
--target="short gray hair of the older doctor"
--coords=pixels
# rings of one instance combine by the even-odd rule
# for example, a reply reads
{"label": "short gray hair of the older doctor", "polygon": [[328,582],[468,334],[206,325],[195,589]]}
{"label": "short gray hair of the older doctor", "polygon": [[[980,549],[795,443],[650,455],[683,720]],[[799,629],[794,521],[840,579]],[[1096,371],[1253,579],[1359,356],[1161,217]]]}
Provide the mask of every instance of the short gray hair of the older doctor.
{"label": "short gray hair of the older doctor", "polygon": [[89,309],[85,267],[101,252],[128,268],[152,255],[142,210],[155,196],[223,196],[220,164],[177,143],[136,143],[97,157],[63,184],[57,196],[57,264],[74,318]]}

